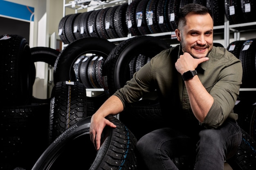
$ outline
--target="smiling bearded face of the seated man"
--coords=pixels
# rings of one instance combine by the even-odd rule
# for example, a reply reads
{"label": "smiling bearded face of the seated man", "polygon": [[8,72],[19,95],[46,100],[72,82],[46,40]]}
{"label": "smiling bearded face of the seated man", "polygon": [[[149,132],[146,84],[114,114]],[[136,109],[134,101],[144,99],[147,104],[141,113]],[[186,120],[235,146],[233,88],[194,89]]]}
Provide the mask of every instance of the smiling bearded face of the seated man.
{"label": "smiling bearded face of the seated man", "polygon": [[[183,52],[194,58],[206,57],[213,47],[213,20],[209,14],[186,15],[186,25],[176,32]],[[180,32],[180,33],[179,33]]]}

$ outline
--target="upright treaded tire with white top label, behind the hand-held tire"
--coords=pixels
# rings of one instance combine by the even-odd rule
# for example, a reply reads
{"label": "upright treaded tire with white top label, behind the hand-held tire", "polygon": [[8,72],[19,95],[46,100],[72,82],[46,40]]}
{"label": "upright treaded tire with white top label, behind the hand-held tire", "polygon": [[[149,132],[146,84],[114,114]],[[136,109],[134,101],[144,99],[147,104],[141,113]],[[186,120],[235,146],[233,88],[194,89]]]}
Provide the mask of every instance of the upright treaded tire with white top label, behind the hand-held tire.
{"label": "upright treaded tire with white top label, behind the hand-held tire", "polygon": [[67,128],[87,117],[86,91],[80,82],[57,82],[52,90],[49,144]]}

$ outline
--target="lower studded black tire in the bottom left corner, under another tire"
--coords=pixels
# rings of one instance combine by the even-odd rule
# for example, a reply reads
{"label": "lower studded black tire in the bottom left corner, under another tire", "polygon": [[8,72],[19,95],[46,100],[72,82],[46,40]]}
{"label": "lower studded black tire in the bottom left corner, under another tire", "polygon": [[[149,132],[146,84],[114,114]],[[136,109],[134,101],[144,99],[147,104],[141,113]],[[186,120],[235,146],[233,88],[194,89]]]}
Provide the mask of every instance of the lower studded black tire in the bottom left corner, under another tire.
{"label": "lower studded black tire in the bottom left corner, under another tire", "polygon": [[0,107],[0,169],[31,169],[48,147],[49,103]]}

